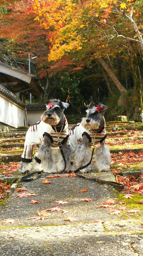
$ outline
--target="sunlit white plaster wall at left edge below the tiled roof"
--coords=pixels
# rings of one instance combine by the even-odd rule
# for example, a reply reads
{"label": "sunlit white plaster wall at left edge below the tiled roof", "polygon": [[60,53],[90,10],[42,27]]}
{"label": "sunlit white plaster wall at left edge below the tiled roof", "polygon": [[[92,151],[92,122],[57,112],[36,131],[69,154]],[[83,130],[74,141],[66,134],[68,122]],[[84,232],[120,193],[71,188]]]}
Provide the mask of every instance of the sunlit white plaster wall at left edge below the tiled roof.
{"label": "sunlit white plaster wall at left edge below the tiled roof", "polygon": [[24,108],[0,95],[0,122],[14,128],[24,126]]}

